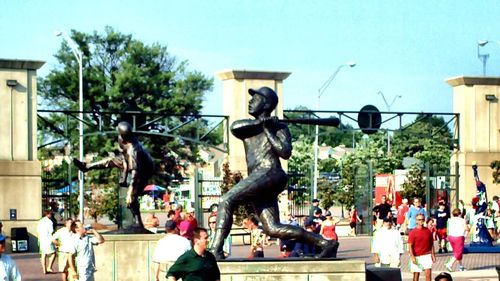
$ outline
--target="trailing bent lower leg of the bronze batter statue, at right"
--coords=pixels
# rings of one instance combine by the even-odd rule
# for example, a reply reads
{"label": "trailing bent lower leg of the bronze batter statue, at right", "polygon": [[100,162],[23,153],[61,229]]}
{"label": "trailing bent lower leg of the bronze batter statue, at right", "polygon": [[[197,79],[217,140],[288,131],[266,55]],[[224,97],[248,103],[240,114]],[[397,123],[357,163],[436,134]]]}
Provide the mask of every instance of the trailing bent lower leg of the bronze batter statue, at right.
{"label": "trailing bent lower leg of the bronze batter statue, at right", "polygon": [[317,255],[320,258],[335,258],[339,243],[335,240],[326,240],[321,235],[308,232],[302,227],[281,224],[279,221],[278,203],[268,202],[255,206],[257,215],[262,222],[264,232],[270,237],[276,237],[285,240],[297,240],[309,245],[316,245],[321,248],[321,253]]}

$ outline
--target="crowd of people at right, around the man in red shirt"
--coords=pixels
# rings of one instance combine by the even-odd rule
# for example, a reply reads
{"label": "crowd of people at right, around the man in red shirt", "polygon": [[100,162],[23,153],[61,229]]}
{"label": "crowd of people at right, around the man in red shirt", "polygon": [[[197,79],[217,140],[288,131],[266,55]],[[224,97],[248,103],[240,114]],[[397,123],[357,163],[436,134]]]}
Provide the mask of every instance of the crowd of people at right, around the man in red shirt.
{"label": "crowd of people at right, around the man in red shirt", "polygon": [[[418,280],[422,272],[426,280],[431,280],[436,253],[448,253],[449,250],[453,255],[445,264],[446,269],[449,272],[466,270],[462,260],[465,239],[475,225],[475,210],[472,206],[466,208],[460,200],[459,206],[450,210],[448,202],[440,196],[433,213],[428,214],[420,198],[413,198],[411,204],[403,199],[395,211],[391,211],[391,203],[384,195],[381,196],[381,202],[373,208],[375,232],[371,251],[375,266],[399,267],[400,257],[404,253],[403,239],[407,235],[413,280]],[[499,235],[499,203],[498,196],[494,196],[488,208],[489,217],[486,221],[492,239]],[[434,249],[435,241],[437,251]]]}

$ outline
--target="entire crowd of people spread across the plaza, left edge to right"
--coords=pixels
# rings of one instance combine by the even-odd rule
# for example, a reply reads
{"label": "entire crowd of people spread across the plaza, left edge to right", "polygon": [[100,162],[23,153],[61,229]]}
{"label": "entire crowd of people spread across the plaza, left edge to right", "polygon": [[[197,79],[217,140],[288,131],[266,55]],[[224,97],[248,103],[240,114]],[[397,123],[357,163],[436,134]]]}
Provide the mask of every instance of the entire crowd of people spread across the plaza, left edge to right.
{"label": "entire crowd of people spread across the plaza, left edge to right", "polygon": [[[487,213],[488,230],[493,239],[498,239],[498,221],[500,221],[500,202],[498,196],[490,201]],[[452,251],[453,255],[445,264],[447,271],[464,271],[464,245],[467,234],[473,227],[474,208],[460,202],[457,208],[451,209],[444,198],[439,197],[437,205],[431,214],[422,205],[420,198],[413,198],[410,202],[403,199],[396,210],[386,196],[381,197],[380,204],[373,209],[374,235],[371,252],[377,267],[400,267],[401,256],[407,252],[410,256],[410,271],[414,280],[420,274],[426,280],[431,280],[432,267],[436,255]],[[55,231],[53,212],[48,210],[37,225],[40,261],[44,274],[54,273],[54,263],[57,257],[58,270],[61,280],[94,280],[95,261],[93,247],[104,242],[101,234],[93,229],[86,228],[80,221],[67,219],[64,226]],[[155,277],[160,279],[161,264],[173,263],[168,269],[168,280],[189,280],[191,277],[204,276],[217,280],[220,271],[215,256],[207,249],[213,243],[216,230],[217,209],[208,216],[208,228],[201,228],[195,218],[195,210],[177,206],[168,211],[165,223],[165,236],[158,241],[153,255],[156,263]],[[349,211],[351,235],[355,236],[357,223],[362,220],[354,207]],[[319,200],[312,202],[310,215],[304,220],[306,231],[321,235],[327,240],[338,241],[336,226],[340,219],[334,217],[330,211],[323,211],[319,207]],[[282,224],[299,226],[297,219],[290,213],[285,216]],[[146,216],[145,227],[158,229],[159,218],[150,213]],[[21,280],[19,270],[14,261],[5,252],[5,235],[0,222],[0,261],[3,264],[4,275],[7,280]],[[250,216],[243,221],[243,227],[251,237],[248,258],[265,257],[265,248],[270,244],[269,237],[264,233],[262,223],[258,217]],[[156,231],[155,231],[156,232]],[[407,236],[407,237],[405,237]],[[404,241],[407,239],[407,248]],[[287,257],[312,257],[321,249],[314,244],[301,243],[296,240],[278,241],[281,255]],[[435,249],[435,245],[437,245]],[[232,236],[228,236],[224,243],[225,257],[231,256]],[[441,279],[438,279],[441,278]],[[447,273],[441,273],[435,280],[451,280]]]}

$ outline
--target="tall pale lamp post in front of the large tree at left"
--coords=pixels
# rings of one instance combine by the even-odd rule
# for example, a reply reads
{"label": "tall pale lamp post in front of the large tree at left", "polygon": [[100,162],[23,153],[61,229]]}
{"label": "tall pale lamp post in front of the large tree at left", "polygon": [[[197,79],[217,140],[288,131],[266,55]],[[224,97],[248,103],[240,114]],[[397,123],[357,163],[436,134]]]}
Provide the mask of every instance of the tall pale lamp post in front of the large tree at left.
{"label": "tall pale lamp post in front of the large tree at left", "polygon": [[[79,127],[78,127],[78,132],[79,132],[79,150],[80,150],[80,161],[84,162],[83,159],[83,54],[78,49],[76,46],[75,42],[64,32],[61,31],[56,31],[54,33],[56,36],[62,36],[63,39],[68,42],[69,47],[71,48],[71,51],[73,52],[73,55],[75,56],[76,60],[78,61],[78,88],[79,88],[79,96],[78,96],[78,104],[79,104],[79,111],[80,113],[78,114],[78,119],[80,119],[79,122]],[[80,196],[78,197],[79,201],[79,218],[80,221],[83,223],[84,222],[84,216],[83,216],[83,184],[84,184],[84,178],[83,178],[83,172],[79,171],[78,172],[78,190],[80,192]],[[71,183],[70,183],[71,186]]]}

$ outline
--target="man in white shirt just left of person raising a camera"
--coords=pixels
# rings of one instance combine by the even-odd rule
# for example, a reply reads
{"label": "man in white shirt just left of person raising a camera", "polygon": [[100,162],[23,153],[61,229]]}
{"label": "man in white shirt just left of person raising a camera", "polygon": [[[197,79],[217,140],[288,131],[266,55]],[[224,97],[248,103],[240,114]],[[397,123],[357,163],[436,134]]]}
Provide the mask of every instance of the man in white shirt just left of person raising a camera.
{"label": "man in white shirt just left of person raising a camera", "polygon": [[74,274],[74,272],[68,272],[69,270],[69,259],[72,258],[72,252],[74,248],[75,234],[71,231],[71,226],[73,225],[73,219],[66,219],[64,222],[64,227],[58,229],[54,235],[52,235],[52,242],[56,245],[58,253],[58,263],[59,272],[62,273],[61,280],[68,280],[68,276]]}

